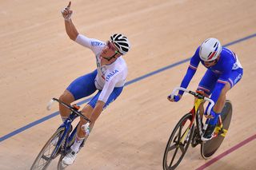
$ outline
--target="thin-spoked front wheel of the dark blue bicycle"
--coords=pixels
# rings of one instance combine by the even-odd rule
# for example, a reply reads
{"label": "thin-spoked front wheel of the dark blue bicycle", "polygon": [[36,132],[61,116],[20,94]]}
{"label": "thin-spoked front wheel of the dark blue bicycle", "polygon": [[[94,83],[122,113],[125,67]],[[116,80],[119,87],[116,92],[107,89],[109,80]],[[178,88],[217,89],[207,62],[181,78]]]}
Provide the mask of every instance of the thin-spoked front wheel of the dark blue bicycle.
{"label": "thin-spoked front wheel of the dark blue bicycle", "polygon": [[57,145],[57,142],[59,139],[61,139],[64,131],[65,128],[58,128],[58,130],[54,132],[54,134],[50,137],[42,150],[39,152],[30,170],[46,169],[49,166],[51,160],[58,156],[58,150],[62,144]]}

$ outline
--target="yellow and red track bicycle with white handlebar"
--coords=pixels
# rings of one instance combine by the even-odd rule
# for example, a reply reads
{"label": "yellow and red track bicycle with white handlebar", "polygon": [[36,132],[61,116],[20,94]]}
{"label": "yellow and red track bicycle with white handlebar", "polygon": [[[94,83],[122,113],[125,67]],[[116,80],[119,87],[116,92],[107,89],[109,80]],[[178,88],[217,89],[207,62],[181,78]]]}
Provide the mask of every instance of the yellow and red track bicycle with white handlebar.
{"label": "yellow and red track bicycle with white handlebar", "polygon": [[162,166],[164,170],[173,170],[177,168],[178,164],[181,163],[185,156],[190,144],[193,148],[198,144],[201,144],[201,156],[204,159],[208,159],[210,156],[214,155],[226,136],[232,117],[232,104],[230,101],[226,100],[222,113],[218,117],[218,124],[214,129],[214,137],[210,140],[203,141],[201,137],[205,132],[207,125],[202,123],[203,113],[200,113],[198,108],[205,101],[210,102],[210,107],[207,110],[208,115],[210,115],[210,110],[214,106],[214,101],[208,97],[204,97],[202,93],[195,93],[182,87],[175,88],[171,97],[174,97],[174,94],[178,90],[190,93],[195,97],[195,101],[193,109],[178,121],[178,124],[175,125],[174,130],[171,132],[163,156]]}

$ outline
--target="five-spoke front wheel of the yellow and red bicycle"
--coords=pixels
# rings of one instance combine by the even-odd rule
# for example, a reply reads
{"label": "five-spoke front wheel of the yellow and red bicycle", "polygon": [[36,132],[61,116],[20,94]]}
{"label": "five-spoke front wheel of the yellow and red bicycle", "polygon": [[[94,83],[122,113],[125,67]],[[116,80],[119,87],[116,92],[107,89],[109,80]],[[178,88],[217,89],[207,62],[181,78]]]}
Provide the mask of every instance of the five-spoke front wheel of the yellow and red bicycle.
{"label": "five-spoke front wheel of the yellow and red bicycle", "polygon": [[164,170],[172,170],[178,167],[190,146],[194,132],[194,125],[190,127],[192,114],[187,113],[178,121],[170,135],[163,156],[162,166]]}

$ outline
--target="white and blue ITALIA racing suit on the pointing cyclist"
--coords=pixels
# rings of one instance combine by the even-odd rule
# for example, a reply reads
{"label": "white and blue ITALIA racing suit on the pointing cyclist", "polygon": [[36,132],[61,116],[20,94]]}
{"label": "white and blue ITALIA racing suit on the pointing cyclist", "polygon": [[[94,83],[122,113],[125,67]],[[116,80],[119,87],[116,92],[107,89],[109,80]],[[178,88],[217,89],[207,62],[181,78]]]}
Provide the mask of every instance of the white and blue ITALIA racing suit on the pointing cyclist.
{"label": "white and blue ITALIA racing suit on the pointing cyclist", "polygon": [[75,42],[94,52],[97,69],[92,73],[78,77],[69,85],[67,90],[73,94],[75,100],[78,100],[89,96],[98,89],[98,93],[89,102],[89,105],[94,108],[97,101],[103,101],[106,107],[122,92],[128,73],[126,61],[121,56],[110,65],[101,65],[102,57],[100,57],[100,54],[106,45],[105,42],[94,38],[86,38],[82,34],[78,34]]}

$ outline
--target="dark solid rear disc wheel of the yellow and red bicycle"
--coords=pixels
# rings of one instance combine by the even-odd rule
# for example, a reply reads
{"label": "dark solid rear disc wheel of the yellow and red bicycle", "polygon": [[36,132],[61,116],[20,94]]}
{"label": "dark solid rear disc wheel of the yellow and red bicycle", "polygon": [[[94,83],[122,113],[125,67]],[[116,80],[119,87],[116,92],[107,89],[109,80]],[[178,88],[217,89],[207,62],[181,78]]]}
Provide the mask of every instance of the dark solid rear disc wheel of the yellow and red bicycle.
{"label": "dark solid rear disc wheel of the yellow and red bicycle", "polygon": [[[221,117],[222,117],[223,129],[227,131],[230,127],[230,121],[232,117],[231,101],[226,100],[224,108],[222,109]],[[214,153],[218,150],[218,148],[222,144],[225,134],[223,134],[223,132],[218,132],[218,136],[214,137],[211,140],[203,142],[201,144],[201,156],[204,159],[208,159],[210,158],[210,156],[214,155]]]}

